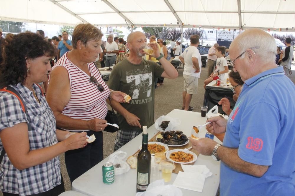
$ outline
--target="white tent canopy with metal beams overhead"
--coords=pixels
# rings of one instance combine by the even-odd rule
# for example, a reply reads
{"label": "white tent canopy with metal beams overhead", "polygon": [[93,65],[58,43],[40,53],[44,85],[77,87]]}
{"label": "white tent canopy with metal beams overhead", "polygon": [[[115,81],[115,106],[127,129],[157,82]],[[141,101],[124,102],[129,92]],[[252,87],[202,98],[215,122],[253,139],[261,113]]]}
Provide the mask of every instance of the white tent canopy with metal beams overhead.
{"label": "white tent canopy with metal beams overhead", "polygon": [[295,0],[1,0],[0,20],[295,31]]}

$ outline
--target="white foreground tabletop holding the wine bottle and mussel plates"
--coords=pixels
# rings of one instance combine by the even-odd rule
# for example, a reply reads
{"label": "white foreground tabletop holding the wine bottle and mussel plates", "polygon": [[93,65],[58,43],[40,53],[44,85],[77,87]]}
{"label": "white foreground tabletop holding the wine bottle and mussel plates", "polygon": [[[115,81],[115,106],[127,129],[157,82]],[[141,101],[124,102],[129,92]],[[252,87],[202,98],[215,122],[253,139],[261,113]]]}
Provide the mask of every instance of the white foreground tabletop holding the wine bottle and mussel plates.
{"label": "white foreground tabletop holding the wine bottle and mussel plates", "polygon": [[[184,110],[172,110],[168,113],[168,116],[174,118],[180,118],[181,125],[174,128],[174,130],[181,130],[187,136],[190,136],[191,128],[193,126],[202,125],[206,123],[206,117],[201,117],[199,112],[191,112]],[[205,137],[206,129],[202,128],[199,132],[199,137]],[[158,133],[155,126],[152,125],[148,128],[149,140]],[[214,140],[221,143],[216,137]],[[124,145],[119,150],[127,152],[127,157],[133,155],[138,147],[142,143],[142,134],[135,137],[129,143]],[[125,158],[125,160],[127,159]],[[72,190],[81,192],[86,195],[91,196],[109,196],[109,195],[120,195],[120,196],[133,196],[136,194],[136,169],[130,169],[129,172],[116,175],[115,182],[110,185],[106,185],[102,182],[102,165],[109,160],[109,157],[105,158],[103,161],[98,163],[96,166],[92,167],[90,170],[85,172],[83,175],[78,177],[72,183]],[[220,162],[214,161],[211,156],[199,155],[195,165],[206,165],[209,170],[213,173],[211,177],[205,180],[203,192],[196,192],[186,189],[181,189],[184,196],[214,196],[217,193],[219,186],[219,171]],[[166,184],[173,184],[176,179],[177,174],[172,173],[171,181],[165,182]]]}

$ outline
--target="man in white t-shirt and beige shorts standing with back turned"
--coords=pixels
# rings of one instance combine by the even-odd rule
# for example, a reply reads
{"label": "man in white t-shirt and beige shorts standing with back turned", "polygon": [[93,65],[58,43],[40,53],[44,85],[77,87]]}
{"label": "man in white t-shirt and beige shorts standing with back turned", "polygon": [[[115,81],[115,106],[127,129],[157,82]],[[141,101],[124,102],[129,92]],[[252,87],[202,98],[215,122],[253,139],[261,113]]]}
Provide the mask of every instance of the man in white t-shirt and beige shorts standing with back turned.
{"label": "man in white t-shirt and beige shorts standing with back turned", "polygon": [[183,83],[184,88],[182,92],[183,109],[192,111],[189,106],[191,98],[198,92],[198,80],[201,74],[201,55],[198,50],[199,35],[191,35],[191,45],[184,50],[179,56],[179,59],[184,63]]}

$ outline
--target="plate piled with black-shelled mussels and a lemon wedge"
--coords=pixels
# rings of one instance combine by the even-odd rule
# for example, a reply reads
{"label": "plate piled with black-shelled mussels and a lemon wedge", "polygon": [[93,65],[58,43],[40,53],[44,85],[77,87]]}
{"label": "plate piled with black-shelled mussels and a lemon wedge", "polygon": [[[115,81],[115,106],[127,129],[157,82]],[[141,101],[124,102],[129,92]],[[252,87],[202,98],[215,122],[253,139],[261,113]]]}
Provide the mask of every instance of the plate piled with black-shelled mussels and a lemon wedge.
{"label": "plate piled with black-shelled mussels and a lemon wedge", "polygon": [[165,131],[156,136],[158,142],[167,146],[183,146],[189,143],[189,138],[182,131]]}

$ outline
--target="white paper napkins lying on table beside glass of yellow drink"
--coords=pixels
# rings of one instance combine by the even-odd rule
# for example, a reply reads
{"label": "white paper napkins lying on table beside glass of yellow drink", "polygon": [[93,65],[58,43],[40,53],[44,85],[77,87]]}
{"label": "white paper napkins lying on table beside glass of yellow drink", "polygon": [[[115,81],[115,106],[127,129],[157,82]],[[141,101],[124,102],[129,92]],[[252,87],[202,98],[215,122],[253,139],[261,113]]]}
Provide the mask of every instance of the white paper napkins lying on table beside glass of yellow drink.
{"label": "white paper napkins lying on table beside glass of yellow drink", "polygon": [[206,165],[181,165],[184,172],[179,172],[173,185],[179,188],[202,192],[205,179],[212,175]]}

